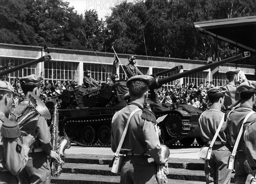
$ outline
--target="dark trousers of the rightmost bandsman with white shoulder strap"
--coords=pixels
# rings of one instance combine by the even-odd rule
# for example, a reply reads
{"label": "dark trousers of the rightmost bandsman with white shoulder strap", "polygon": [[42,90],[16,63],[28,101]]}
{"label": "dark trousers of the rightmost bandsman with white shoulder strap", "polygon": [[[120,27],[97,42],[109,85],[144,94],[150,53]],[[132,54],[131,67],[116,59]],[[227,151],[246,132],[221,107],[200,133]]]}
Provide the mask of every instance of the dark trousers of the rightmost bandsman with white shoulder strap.
{"label": "dark trousers of the rightmost bandsman with white shoulder strap", "polygon": [[234,180],[236,184],[245,184],[247,175],[253,173],[244,152],[236,152],[235,173]]}

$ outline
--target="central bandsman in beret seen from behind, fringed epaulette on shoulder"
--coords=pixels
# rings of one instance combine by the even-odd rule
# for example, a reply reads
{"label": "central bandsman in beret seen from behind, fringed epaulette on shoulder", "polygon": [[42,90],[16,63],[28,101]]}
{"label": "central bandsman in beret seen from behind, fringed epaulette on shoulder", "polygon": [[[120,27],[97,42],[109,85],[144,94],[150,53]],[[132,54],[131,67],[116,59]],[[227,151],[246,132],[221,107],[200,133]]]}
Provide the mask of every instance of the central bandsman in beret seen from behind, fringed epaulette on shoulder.
{"label": "central bandsman in beret seen from behind, fringed epaulette on shoulder", "polygon": [[[155,162],[164,164],[167,159],[160,156],[161,147],[156,134],[154,113],[144,109],[143,105],[148,97],[148,86],[152,76],[134,76],[128,79],[127,87],[131,96],[131,103],[114,116],[111,125],[111,149],[116,152],[126,122],[131,112],[140,108],[132,117],[123,140],[121,154],[126,154],[121,169],[120,184],[157,184],[155,178],[155,164],[148,163],[151,157]],[[150,155],[150,156],[148,156]]]}

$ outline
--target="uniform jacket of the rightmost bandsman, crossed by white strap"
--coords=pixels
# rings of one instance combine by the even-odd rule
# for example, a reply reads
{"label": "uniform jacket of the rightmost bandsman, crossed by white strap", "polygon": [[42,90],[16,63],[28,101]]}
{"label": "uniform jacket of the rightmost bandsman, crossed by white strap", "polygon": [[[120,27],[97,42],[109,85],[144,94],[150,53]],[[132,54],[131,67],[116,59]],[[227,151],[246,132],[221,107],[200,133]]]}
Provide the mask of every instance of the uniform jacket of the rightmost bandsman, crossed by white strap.
{"label": "uniform jacket of the rightmost bandsman, crossed by white strap", "polygon": [[[230,139],[231,146],[235,145],[239,130],[243,124],[244,118],[247,116],[250,111],[253,109],[247,105],[241,104],[239,108],[231,111],[229,118],[227,120],[228,134]],[[256,113],[253,113],[244,123],[244,128],[256,119]],[[244,133],[243,133],[244,134]],[[242,135],[243,135],[242,134]],[[241,136],[237,150],[244,150],[244,138]]]}

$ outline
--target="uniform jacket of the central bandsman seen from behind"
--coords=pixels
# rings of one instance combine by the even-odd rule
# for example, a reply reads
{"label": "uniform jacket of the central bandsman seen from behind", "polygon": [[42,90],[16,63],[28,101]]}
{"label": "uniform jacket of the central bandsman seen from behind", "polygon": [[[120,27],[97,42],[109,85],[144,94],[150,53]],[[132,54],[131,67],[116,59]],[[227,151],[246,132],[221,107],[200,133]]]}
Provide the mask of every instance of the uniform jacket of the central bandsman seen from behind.
{"label": "uniform jacket of the central bandsman seen from behind", "polygon": [[[132,103],[140,105],[137,102]],[[111,149],[113,152],[116,152],[131,112],[139,108],[137,105],[128,105],[113,116],[111,125]],[[142,105],[140,107],[143,108]],[[161,151],[159,138],[153,123],[141,118],[142,113],[143,110],[139,110],[132,116],[120,153],[148,153],[153,159],[159,161]]]}

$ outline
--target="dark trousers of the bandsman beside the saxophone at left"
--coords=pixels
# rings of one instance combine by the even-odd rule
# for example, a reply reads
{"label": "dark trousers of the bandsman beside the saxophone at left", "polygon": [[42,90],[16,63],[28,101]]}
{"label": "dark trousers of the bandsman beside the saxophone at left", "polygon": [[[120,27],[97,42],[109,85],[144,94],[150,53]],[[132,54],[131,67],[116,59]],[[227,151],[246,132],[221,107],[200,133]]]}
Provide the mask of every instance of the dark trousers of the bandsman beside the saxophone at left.
{"label": "dark trousers of the bandsman beside the saxophone at left", "polygon": [[19,176],[21,184],[49,184],[51,168],[44,151],[29,153],[29,161]]}

